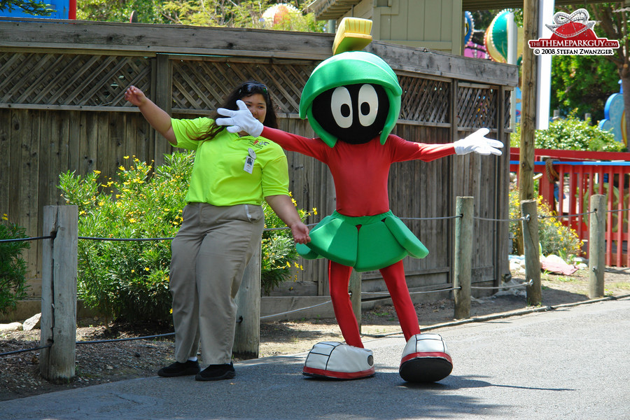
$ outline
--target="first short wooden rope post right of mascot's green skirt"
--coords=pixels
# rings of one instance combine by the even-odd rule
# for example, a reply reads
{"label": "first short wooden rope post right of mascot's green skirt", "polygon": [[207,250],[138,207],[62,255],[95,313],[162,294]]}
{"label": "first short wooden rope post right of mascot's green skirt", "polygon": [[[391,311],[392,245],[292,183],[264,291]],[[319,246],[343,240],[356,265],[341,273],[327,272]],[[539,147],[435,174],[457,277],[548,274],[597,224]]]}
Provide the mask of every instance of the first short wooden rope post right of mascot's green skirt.
{"label": "first short wooden rope post right of mascot's green skirt", "polygon": [[455,214],[455,318],[470,318],[470,281],[472,277],[473,197],[457,197]]}

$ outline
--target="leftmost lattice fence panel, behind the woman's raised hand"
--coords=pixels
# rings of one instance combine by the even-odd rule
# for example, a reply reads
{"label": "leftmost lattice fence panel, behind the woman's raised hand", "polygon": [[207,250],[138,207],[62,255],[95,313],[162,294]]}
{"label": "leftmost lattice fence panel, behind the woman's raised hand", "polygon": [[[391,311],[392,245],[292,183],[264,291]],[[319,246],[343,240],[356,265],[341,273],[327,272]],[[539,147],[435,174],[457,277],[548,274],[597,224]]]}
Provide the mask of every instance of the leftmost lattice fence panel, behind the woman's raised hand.
{"label": "leftmost lattice fence panel, behind the woman's raised hand", "polygon": [[143,57],[0,53],[0,103],[131,106],[129,85],[151,95],[151,63]]}

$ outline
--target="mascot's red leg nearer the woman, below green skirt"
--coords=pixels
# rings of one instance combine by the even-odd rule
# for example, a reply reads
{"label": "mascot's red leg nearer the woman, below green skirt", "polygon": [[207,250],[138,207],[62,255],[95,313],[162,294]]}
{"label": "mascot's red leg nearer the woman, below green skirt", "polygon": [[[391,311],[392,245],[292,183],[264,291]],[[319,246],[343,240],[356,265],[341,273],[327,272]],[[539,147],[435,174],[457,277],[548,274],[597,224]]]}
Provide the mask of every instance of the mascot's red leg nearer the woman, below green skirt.
{"label": "mascot's red leg nearer the woman, below green skirt", "polygon": [[352,267],[328,261],[328,284],[335,318],[337,318],[337,323],[342,330],[346,344],[363,349],[358,323],[352,311],[352,303],[348,294],[351,272]]}

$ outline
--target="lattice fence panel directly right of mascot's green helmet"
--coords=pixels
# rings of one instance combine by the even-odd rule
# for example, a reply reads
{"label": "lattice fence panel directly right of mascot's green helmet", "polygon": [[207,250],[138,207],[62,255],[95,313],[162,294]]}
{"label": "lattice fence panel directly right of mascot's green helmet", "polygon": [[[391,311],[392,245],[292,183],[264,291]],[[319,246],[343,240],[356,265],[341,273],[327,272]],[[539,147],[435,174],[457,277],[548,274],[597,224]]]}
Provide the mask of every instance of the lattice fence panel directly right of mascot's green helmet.
{"label": "lattice fence panel directly right of mascot's green helmet", "polygon": [[449,83],[427,78],[398,76],[402,87],[402,120],[449,123]]}

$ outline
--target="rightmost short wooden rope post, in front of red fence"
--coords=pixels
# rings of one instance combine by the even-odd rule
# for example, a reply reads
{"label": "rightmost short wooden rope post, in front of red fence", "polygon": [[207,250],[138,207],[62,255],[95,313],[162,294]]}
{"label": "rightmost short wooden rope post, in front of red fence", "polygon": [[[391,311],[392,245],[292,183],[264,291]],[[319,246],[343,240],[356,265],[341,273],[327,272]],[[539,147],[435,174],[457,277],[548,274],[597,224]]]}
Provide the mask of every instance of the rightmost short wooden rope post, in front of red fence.
{"label": "rightmost short wooden rope post, in front of red fence", "polygon": [[606,196],[591,195],[589,223],[589,297],[604,295]]}

